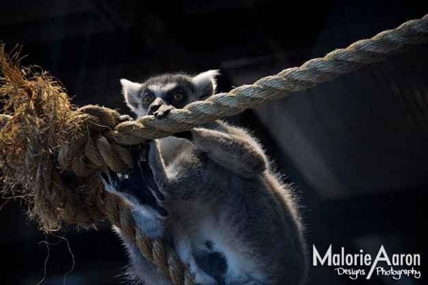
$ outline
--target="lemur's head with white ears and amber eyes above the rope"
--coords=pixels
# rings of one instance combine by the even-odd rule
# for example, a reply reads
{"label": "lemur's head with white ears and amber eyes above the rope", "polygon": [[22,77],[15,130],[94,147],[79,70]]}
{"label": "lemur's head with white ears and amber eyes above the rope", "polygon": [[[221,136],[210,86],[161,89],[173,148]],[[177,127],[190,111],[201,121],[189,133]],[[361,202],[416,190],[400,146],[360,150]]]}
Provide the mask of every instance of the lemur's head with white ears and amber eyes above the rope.
{"label": "lemur's head with white ears and amber eyes above the rope", "polygon": [[217,70],[205,71],[194,77],[181,73],[151,77],[136,83],[121,79],[127,106],[138,117],[155,114],[161,106],[184,108],[188,103],[205,100],[216,89]]}

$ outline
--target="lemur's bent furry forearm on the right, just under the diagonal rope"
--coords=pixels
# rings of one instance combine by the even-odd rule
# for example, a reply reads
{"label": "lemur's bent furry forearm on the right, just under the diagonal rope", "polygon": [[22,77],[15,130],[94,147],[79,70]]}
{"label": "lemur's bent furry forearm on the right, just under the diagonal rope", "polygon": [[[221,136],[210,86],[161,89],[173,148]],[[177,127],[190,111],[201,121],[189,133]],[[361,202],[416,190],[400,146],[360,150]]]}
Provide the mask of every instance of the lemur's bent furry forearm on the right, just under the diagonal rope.
{"label": "lemur's bent furry forearm on the right, just under the diagonal rope", "polygon": [[255,139],[225,122],[216,121],[175,136],[188,139],[214,162],[242,177],[253,177],[267,167],[264,151]]}

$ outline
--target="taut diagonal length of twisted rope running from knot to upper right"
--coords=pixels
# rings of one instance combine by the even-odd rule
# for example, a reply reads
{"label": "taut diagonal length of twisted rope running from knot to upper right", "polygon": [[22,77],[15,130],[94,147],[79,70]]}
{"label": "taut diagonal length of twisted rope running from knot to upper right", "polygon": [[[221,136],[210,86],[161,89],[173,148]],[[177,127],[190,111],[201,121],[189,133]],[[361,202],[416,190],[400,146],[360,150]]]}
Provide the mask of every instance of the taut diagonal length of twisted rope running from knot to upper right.
{"label": "taut diagonal length of twisted rope running from knot to upper right", "polygon": [[403,52],[410,47],[427,42],[428,14],[418,20],[407,21],[373,38],[359,40],[346,49],[337,49],[305,62],[300,67],[285,69],[277,75],[264,77],[254,84],[234,88],[190,103],[184,109],[172,110],[166,119],[144,116],[134,122],[117,125],[114,131],[119,145],[141,143],[149,138],[162,138],[175,132],[191,129],[225,116],[257,108],[273,99],[305,90],[335,79],[342,73],[355,71],[365,64],[378,62],[388,55]]}

